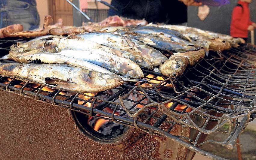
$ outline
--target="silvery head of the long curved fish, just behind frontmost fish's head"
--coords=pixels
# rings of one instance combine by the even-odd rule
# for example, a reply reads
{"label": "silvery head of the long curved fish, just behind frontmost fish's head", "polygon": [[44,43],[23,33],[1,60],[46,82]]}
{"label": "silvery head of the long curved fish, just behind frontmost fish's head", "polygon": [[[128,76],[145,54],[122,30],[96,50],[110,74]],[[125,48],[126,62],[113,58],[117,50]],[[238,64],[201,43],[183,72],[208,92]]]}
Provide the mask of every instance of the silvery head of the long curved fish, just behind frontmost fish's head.
{"label": "silvery head of the long curved fish, just behind frontmost fish's head", "polygon": [[120,67],[117,68],[119,74],[125,78],[141,79],[144,77],[140,66],[132,62],[130,59],[120,58]]}

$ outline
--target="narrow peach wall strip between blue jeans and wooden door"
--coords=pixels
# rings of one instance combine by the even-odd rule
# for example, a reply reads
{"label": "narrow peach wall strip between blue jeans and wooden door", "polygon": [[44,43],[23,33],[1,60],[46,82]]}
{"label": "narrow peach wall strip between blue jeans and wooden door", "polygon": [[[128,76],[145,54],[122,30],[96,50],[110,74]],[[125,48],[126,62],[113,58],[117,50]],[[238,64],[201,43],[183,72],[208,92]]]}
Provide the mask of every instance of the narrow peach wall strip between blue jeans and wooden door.
{"label": "narrow peach wall strip between blue jeans and wooden door", "polygon": [[44,24],[45,15],[48,15],[48,0],[36,0],[37,11],[40,16],[40,27]]}

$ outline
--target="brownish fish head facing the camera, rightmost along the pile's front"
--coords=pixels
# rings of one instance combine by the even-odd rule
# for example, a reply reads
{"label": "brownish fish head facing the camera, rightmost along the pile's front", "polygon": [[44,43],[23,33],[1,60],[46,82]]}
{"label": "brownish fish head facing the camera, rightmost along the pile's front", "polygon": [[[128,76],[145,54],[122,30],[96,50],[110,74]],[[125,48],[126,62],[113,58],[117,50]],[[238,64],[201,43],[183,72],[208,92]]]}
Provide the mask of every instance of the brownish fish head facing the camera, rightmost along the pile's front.
{"label": "brownish fish head facing the camera, rightmost along the pile's front", "polygon": [[188,65],[188,59],[183,56],[171,56],[159,69],[165,76],[177,77],[181,75]]}

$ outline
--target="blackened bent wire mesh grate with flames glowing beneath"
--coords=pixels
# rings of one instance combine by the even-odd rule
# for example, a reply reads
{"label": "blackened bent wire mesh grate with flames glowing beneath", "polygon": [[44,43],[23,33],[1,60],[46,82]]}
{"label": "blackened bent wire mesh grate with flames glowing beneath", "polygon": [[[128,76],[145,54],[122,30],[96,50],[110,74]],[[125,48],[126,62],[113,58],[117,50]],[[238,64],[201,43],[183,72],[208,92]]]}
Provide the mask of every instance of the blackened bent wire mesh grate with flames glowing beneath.
{"label": "blackened bent wire mesh grate with flames glowing beneath", "polygon": [[[8,53],[12,44],[25,41],[27,39],[0,40],[1,56]],[[233,149],[239,134],[256,117],[255,53],[256,47],[249,44],[222,53],[210,52],[208,57],[187,68],[177,78],[143,69],[149,82],[125,83],[96,95],[67,92],[38,83],[35,85],[36,82],[19,77],[1,76],[0,87],[37,101],[167,137],[194,152],[215,159],[220,157],[199,149],[199,146],[216,143]],[[45,91],[46,86],[51,91]],[[86,100],[79,98],[80,95],[87,97]],[[133,100],[129,98],[130,95],[139,98]],[[180,105],[186,107],[177,110]],[[104,110],[106,107],[113,112]],[[117,112],[119,115],[115,115]],[[162,114],[156,116],[157,113]],[[141,115],[145,118],[139,118]],[[196,118],[203,119],[204,123],[196,124]],[[209,127],[210,123],[214,125]],[[193,129],[196,137],[172,135],[176,124]],[[223,126],[227,124],[229,127],[225,130]],[[225,141],[200,139],[204,134],[218,131],[227,134]]]}

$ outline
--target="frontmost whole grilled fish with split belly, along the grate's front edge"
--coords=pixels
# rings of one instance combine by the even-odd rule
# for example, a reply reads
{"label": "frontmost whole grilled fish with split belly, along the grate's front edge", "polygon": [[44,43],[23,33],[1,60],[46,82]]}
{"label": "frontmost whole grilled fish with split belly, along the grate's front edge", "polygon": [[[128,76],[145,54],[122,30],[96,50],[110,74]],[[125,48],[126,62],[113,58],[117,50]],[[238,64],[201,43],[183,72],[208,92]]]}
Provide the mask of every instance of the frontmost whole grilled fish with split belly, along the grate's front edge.
{"label": "frontmost whole grilled fish with split belly, along the grate's front edge", "polygon": [[75,92],[101,92],[124,83],[120,77],[64,64],[0,63],[0,74]]}

